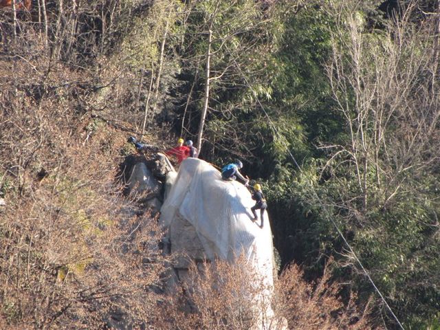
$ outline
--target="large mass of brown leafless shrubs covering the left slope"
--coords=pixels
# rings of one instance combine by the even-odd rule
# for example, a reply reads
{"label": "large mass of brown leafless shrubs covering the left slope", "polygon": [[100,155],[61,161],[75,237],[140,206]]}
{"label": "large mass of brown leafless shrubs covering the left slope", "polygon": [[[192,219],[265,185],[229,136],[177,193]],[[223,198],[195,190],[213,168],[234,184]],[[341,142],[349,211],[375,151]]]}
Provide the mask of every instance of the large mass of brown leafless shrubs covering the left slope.
{"label": "large mass of brown leafless shrubs covering the left slope", "polygon": [[[156,219],[130,211],[115,184],[125,133],[82,108],[92,95],[63,85],[80,80],[78,72],[39,60],[0,63],[10,73],[0,78],[7,203],[0,208],[0,328],[147,324],[151,286],[164,270],[162,233]],[[46,65],[53,74],[36,74]]]}

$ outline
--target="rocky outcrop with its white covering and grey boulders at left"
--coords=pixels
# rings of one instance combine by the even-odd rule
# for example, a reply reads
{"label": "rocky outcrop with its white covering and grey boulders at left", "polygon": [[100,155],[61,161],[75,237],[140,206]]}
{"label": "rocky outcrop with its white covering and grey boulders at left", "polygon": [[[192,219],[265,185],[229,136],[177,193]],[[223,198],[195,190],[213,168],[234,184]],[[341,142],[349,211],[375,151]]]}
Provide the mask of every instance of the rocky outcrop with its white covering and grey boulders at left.
{"label": "rocky outcrop with its white covering and grey boulders at left", "polygon": [[[272,231],[267,213],[263,229],[252,222],[254,201],[248,189],[236,181],[223,181],[219,171],[201,159],[184,160],[178,173],[168,170],[164,159],[148,164],[152,169],[144,163],[133,166],[128,186],[131,195],[151,203],[164,194],[159,223],[166,236],[161,245],[164,253],[175,256],[173,269],[165,276],[165,291],[175,292],[179,283],[188,281],[188,269],[194,262],[203,267],[207,260],[219,258],[233,263],[237,256],[244,256],[268,288],[261,301],[270,301],[274,278]],[[162,169],[155,172],[158,164]],[[166,178],[165,186],[153,173]],[[157,202],[155,208],[159,205]],[[266,329],[263,325],[268,320],[272,325],[277,322],[270,305],[264,318],[254,330]],[[278,320],[281,323],[273,329],[287,329],[284,321]]]}

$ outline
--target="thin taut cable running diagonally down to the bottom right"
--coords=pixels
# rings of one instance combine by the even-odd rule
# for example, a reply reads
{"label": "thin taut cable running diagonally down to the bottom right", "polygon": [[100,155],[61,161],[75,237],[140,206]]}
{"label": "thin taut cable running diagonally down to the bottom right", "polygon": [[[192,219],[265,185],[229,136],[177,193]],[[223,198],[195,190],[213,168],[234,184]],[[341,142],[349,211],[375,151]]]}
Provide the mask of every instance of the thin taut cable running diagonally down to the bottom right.
{"label": "thin taut cable running diagonally down to the bottom right", "polygon": [[[234,61],[235,62],[235,61]],[[245,75],[243,74],[243,72],[241,71],[241,68],[239,67],[239,65],[236,64],[235,65],[237,67],[237,69],[239,69],[241,76],[243,77],[243,79],[245,80],[246,85],[248,85],[248,87],[250,88],[250,90],[252,90],[255,94],[255,98],[256,98],[256,102],[259,104],[259,106],[261,107],[261,110],[263,110],[267,120],[270,122],[272,129],[274,129],[275,133],[278,134],[278,136],[283,137],[283,135],[281,133],[278,132],[278,129],[276,129],[276,126],[274,124],[274,122],[272,122],[272,119],[270,118],[270,115],[267,113],[267,111],[264,109],[263,104],[261,104],[259,98],[256,96],[256,93],[254,91],[254,89],[252,88],[252,86],[250,85],[250,83],[248,82],[248,79],[245,77]],[[294,161],[294,164],[296,165],[296,167],[298,168],[298,170],[300,170],[300,173],[303,173],[302,168],[299,166],[298,162],[296,162],[296,159],[294,157],[294,155],[292,155],[292,153],[289,151],[289,149],[287,149],[287,152],[289,153],[290,157],[292,158],[292,160]],[[358,259],[358,256],[355,254],[353,248],[351,248],[351,245],[349,244],[349,242],[347,241],[347,239],[345,239],[344,234],[342,234],[341,230],[339,229],[337,223],[333,220],[333,218],[331,217],[331,214],[329,212],[329,210],[327,210],[327,208],[325,207],[325,205],[320,201],[318,194],[316,193],[315,190],[313,190],[313,195],[314,198],[316,198],[316,201],[318,201],[318,203],[320,203],[320,205],[322,206],[322,209],[325,210],[325,215],[327,217],[327,219],[329,219],[331,221],[331,223],[333,224],[333,226],[336,228],[336,231],[338,232],[338,234],[341,236],[342,241],[344,241],[345,245],[347,245],[347,247],[349,248],[349,251],[351,252],[351,254],[353,255],[355,261],[360,265],[360,268],[362,270],[362,272],[364,272],[366,278],[369,279],[369,282],[371,283],[371,285],[373,285],[373,288],[375,289],[375,291],[377,292],[377,294],[379,294],[380,298],[382,299],[382,301],[384,302],[386,308],[388,309],[388,311],[390,311],[391,315],[393,316],[393,318],[396,320],[397,324],[399,325],[400,329],[405,330],[404,327],[401,325],[399,319],[397,318],[397,316],[394,314],[393,309],[391,309],[390,305],[388,305],[388,303],[386,302],[386,299],[384,297],[384,295],[382,294],[382,292],[380,292],[380,289],[377,288],[377,286],[375,285],[373,278],[371,278],[369,272],[366,271],[364,265],[362,265],[361,261]]]}

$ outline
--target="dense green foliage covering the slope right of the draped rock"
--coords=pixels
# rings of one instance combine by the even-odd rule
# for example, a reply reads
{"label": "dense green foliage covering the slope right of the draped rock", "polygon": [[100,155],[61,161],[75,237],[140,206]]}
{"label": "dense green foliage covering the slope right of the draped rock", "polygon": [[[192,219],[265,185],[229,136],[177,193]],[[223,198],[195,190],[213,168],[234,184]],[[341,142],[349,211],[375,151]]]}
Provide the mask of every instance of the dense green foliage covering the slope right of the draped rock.
{"label": "dense green foliage covering the slope right of the draped rock", "polygon": [[[327,155],[316,151],[313,144],[325,142],[344,145],[349,143],[350,135],[345,131],[348,124],[344,124],[341,113],[335,110],[336,104],[331,100],[323,66],[329,56],[329,32],[333,28],[331,19],[334,17],[327,17],[328,14],[320,12],[320,8],[314,10],[307,10],[303,15],[299,13],[289,21],[294,27],[291,30],[292,35],[287,30],[289,38],[285,39],[286,44],[282,51],[276,54],[276,61],[273,62],[276,74],[272,76],[271,87],[273,93],[265,100],[266,109],[275,118],[274,125],[279,126],[283,132],[281,139],[274,132],[271,132],[274,135],[270,138],[263,135],[262,139],[264,150],[268,151],[265,155],[273,152],[272,168],[265,168],[264,173],[270,173],[267,186],[271,189],[266,195],[276,246],[281,251],[284,262],[292,258],[307,266],[309,276],[316,276],[316,272],[322,268],[322,263],[317,260],[335,252],[343,256],[347,248],[333,227],[331,218],[349,240],[376,285],[388,297],[388,303],[399,318],[405,322],[418,317],[432,320],[439,310],[437,302],[440,301],[437,286],[433,284],[438,283],[434,270],[440,267],[439,239],[435,229],[439,206],[435,202],[437,192],[421,187],[430,187],[431,184],[427,183],[435,181],[436,176],[432,176],[433,173],[429,171],[423,171],[423,175],[412,172],[410,175],[406,173],[405,177],[399,176],[399,184],[402,183],[401,179],[406,181],[403,186],[399,186],[398,191],[406,193],[393,196],[392,201],[387,199],[384,205],[384,200],[391,194],[393,179],[390,184],[384,184],[390,178],[381,177],[382,184],[377,186],[377,167],[364,167],[363,158],[356,159],[358,170],[362,173],[359,176],[349,148],[334,154],[332,162],[337,165],[327,167]],[[367,24],[366,16],[363,12],[358,12],[355,19],[358,29],[362,31]],[[307,31],[300,30],[302,25],[303,30]],[[340,42],[345,45],[343,39]],[[365,52],[359,59],[364,61],[364,71],[361,74],[363,78],[383,68],[380,66],[383,63],[377,62],[378,58],[383,57],[377,54],[392,54],[394,45],[391,43],[389,35],[383,31],[364,34]],[[426,45],[420,43],[415,49],[421,50],[423,47]],[[422,54],[417,51],[406,53],[405,49],[401,51],[401,67],[408,66],[406,61],[411,58],[409,54]],[[371,79],[374,81],[375,77],[372,75]],[[362,80],[364,81],[366,80]],[[344,102],[349,104],[350,110],[355,104],[354,98],[355,94],[348,89]],[[284,125],[285,122],[295,124]],[[392,126],[396,131],[400,127],[397,123],[393,122]],[[264,124],[260,125],[262,126]],[[292,130],[285,129],[286,126],[290,126]],[[366,132],[370,132],[369,127]],[[400,129],[396,133],[403,132],[405,131]],[[294,140],[292,135],[295,133]],[[373,140],[372,136],[366,137],[370,138]],[[292,142],[288,144],[290,139]],[[393,148],[388,147],[387,152],[391,149]],[[301,173],[292,164],[292,158],[287,151],[294,151],[294,157],[297,161],[299,159],[303,168]],[[310,161],[309,159],[313,159],[310,157],[316,158]],[[395,154],[395,157],[399,156]],[[322,168],[325,170],[321,172]],[[381,164],[381,168],[385,168],[385,165]],[[257,170],[254,173],[260,174]],[[382,174],[383,171],[380,172]],[[364,188],[358,184],[360,177],[366,180],[369,192],[369,205],[366,209],[363,209],[362,203]],[[357,272],[347,269],[347,263],[358,268],[356,263],[350,259],[347,261],[345,257],[338,261],[344,267],[336,270],[335,276],[347,281],[355,278],[353,284],[359,292],[373,292],[369,283],[364,281],[364,276],[358,277],[355,275]],[[424,322],[423,325],[427,327],[428,323],[429,321]]]}

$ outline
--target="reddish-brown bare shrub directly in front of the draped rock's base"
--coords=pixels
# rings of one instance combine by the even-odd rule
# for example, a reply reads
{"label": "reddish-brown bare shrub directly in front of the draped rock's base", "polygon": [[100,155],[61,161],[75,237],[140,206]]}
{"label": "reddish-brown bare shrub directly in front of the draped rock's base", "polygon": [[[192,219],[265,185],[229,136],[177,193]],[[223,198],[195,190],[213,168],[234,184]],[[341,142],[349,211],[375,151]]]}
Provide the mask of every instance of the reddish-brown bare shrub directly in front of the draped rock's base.
{"label": "reddish-brown bare shrub directly in front of the draped rock's base", "polygon": [[[245,267],[248,269],[243,271]],[[258,325],[263,279],[243,259],[193,263],[160,306],[161,329],[252,329]]]}

